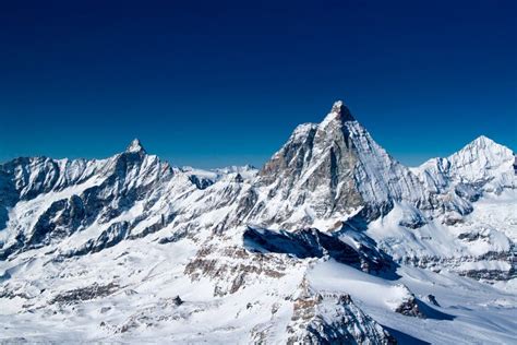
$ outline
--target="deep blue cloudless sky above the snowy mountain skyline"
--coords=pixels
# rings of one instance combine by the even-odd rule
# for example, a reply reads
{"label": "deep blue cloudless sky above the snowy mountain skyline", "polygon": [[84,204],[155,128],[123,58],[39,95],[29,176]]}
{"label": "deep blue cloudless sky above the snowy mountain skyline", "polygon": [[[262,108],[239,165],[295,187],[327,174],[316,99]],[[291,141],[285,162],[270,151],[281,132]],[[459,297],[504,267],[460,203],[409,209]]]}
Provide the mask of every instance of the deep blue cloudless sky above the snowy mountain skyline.
{"label": "deep blue cloudless sky above the snowy mountain skyline", "polygon": [[2,1],[0,160],[260,166],[336,99],[409,165],[517,150],[517,1],[280,2]]}

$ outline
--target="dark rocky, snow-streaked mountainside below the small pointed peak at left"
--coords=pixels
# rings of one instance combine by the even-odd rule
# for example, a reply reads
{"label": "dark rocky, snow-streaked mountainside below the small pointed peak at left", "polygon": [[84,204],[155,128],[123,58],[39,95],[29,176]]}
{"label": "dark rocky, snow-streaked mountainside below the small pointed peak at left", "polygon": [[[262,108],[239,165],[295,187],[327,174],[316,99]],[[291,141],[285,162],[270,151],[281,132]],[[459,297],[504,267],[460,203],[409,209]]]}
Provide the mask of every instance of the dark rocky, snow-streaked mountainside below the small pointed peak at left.
{"label": "dark rocky, snow-streaked mountainside below the small pointed peak at left", "polygon": [[[169,192],[168,183],[194,190],[167,163],[147,155],[137,140],[108,159],[23,158],[0,169],[10,190],[0,209],[11,210],[0,239],[0,259],[67,240],[94,225],[103,229],[101,234],[86,241],[79,252],[113,246],[140,230],[143,219],[151,222],[153,217],[147,216]],[[139,210],[137,216],[113,223],[134,209]],[[167,221],[171,219],[170,210],[161,207],[161,212]]]}

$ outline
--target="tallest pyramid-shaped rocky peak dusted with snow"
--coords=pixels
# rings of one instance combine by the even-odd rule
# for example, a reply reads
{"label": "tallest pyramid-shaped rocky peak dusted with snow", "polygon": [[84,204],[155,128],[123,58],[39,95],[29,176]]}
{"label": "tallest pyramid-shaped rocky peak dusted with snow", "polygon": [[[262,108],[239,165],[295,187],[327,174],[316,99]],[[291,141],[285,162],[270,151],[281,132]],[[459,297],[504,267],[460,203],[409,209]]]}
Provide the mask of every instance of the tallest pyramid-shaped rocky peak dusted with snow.
{"label": "tallest pyramid-shaped rocky peak dusted with snow", "polygon": [[369,219],[407,200],[426,205],[425,191],[336,102],[320,124],[299,126],[258,172],[254,192],[266,195],[243,211],[251,223],[293,229],[340,221],[364,209]]}

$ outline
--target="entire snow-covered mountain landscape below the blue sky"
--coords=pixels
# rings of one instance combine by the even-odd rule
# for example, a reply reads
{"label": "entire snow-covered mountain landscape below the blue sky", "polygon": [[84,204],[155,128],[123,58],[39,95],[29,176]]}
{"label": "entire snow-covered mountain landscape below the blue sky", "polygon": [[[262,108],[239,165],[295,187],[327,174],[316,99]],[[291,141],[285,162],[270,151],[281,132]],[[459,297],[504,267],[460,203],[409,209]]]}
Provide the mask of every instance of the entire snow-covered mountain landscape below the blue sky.
{"label": "entire snow-covered mountain landscape below the blue sky", "polygon": [[342,102],[260,170],[0,165],[0,342],[515,344],[517,165],[408,168]]}

